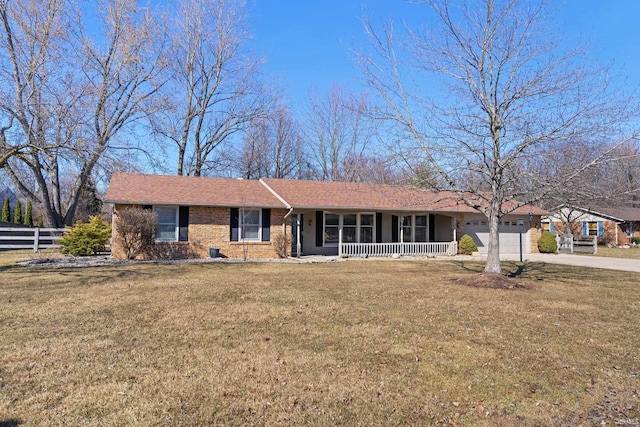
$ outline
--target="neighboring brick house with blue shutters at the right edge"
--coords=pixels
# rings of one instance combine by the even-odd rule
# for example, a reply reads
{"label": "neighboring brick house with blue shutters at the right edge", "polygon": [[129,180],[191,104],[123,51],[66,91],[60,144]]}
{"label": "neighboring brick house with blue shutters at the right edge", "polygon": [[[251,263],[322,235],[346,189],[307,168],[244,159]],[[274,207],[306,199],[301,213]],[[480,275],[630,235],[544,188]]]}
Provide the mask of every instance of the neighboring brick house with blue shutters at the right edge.
{"label": "neighboring brick house with blue shutters at the right edge", "polygon": [[542,230],[553,234],[567,233],[597,236],[604,244],[628,244],[640,236],[640,208],[598,208],[562,206],[542,217]]}

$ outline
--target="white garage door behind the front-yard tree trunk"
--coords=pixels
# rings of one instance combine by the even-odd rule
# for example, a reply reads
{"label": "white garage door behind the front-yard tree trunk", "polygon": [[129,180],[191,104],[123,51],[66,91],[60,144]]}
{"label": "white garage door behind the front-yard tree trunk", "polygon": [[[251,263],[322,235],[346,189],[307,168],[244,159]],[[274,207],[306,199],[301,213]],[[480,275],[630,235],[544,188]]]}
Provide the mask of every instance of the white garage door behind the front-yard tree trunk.
{"label": "white garage door behind the front-yard tree trunk", "polygon": [[[523,227],[523,231],[524,229]],[[489,249],[489,225],[486,219],[467,220],[464,226],[464,234],[473,237],[480,253],[487,253]],[[523,232],[522,253],[528,254],[529,252],[531,252],[529,234]],[[520,253],[520,226],[518,226],[517,219],[500,222],[500,253]]]}

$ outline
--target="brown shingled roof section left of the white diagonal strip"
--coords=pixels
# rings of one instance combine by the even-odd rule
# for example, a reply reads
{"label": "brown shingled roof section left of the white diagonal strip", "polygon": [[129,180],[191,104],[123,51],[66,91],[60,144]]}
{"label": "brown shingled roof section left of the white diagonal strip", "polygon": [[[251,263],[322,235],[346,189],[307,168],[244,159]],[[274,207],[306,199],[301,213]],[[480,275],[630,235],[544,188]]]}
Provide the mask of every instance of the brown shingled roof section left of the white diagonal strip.
{"label": "brown shingled roof section left of the white diagonal strip", "polygon": [[117,173],[105,199],[123,204],[284,208],[259,181],[177,175]]}

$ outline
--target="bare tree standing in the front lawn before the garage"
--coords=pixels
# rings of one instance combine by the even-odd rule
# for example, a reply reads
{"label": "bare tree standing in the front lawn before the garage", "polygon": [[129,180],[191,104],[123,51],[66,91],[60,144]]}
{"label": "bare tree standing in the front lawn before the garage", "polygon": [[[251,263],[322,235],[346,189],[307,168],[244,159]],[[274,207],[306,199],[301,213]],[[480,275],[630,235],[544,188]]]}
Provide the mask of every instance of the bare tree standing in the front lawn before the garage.
{"label": "bare tree standing in the front lawn before the garage", "polygon": [[[616,102],[603,70],[583,61],[583,51],[560,51],[547,1],[414,3],[434,14],[438,30],[409,30],[400,44],[392,23],[366,25],[374,52],[359,59],[382,100],[377,118],[395,123],[397,140],[407,141],[402,150],[419,151],[447,188],[487,217],[485,271],[500,273],[501,217],[544,197],[552,184],[523,174],[520,161],[542,158],[563,141],[619,137],[630,103]],[[444,83],[438,96],[419,84],[434,77]],[[591,158],[554,181],[568,182],[598,162]]]}

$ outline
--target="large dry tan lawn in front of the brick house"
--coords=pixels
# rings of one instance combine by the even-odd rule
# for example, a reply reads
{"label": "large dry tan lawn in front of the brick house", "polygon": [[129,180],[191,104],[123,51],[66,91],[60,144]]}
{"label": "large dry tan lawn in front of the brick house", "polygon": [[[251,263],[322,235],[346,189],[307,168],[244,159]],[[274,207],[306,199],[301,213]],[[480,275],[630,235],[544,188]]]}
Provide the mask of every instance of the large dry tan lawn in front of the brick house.
{"label": "large dry tan lawn in front of the brick house", "polygon": [[0,425],[640,425],[639,274],[7,257]]}

